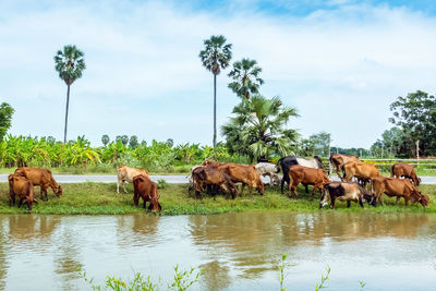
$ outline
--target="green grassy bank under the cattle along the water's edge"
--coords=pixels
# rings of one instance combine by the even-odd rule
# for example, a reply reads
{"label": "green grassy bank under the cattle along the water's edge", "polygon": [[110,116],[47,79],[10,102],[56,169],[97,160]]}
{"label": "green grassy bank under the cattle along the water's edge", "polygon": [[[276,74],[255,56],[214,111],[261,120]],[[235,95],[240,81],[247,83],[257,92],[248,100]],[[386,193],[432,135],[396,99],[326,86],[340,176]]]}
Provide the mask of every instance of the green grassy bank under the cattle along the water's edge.
{"label": "green grassy bank under the cattle along the water's edge", "polygon": [[[69,214],[69,215],[121,215],[147,213],[142,207],[133,205],[132,184],[128,185],[129,194],[117,194],[114,183],[77,183],[63,184],[63,196],[57,198],[49,191],[49,201],[39,199],[39,186],[35,187],[36,198],[39,204],[34,205],[34,214]],[[311,187],[310,187],[311,189]],[[403,213],[403,211],[425,211],[436,213],[436,185],[421,185],[422,193],[428,194],[431,205],[424,209],[421,205],[405,207],[403,199],[399,205],[395,205],[395,198],[385,197],[385,205],[376,208],[365,204],[361,209],[352,203],[350,208],[346,208],[346,203],[337,203],[335,210],[327,207],[323,211],[377,211],[377,213]],[[1,214],[24,214],[28,213],[26,207],[9,207],[8,184],[0,183],[0,213]],[[272,210],[282,209],[290,211],[318,211],[319,194],[316,194],[315,201],[310,202],[308,194],[304,193],[302,186],[299,187],[300,198],[289,198],[288,195],[280,194],[278,189],[267,189],[264,196],[253,192],[253,198],[245,195],[237,199],[227,199],[218,195],[214,201],[208,195],[203,199],[195,199],[187,194],[187,185],[169,184],[166,189],[159,190],[160,204],[162,206],[161,215],[190,215],[190,214],[218,214],[227,211],[243,210]]]}

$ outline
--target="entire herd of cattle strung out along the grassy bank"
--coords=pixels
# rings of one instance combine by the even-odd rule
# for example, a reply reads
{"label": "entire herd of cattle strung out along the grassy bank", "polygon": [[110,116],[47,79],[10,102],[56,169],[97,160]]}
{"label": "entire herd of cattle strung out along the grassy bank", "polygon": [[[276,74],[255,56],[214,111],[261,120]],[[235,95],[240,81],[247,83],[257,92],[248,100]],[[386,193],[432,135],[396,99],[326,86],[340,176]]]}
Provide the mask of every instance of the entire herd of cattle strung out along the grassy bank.
{"label": "entire herd of cattle strung out along the grassy bank", "polygon": [[[214,199],[219,192],[230,193],[234,199],[238,194],[243,195],[244,187],[247,185],[250,197],[253,189],[257,189],[258,193],[264,195],[265,185],[261,179],[263,175],[270,178],[270,186],[280,184],[281,193],[283,193],[284,182],[288,183],[289,196],[291,197],[293,192],[295,198],[298,198],[299,184],[305,186],[306,193],[308,193],[307,185],[313,185],[311,201],[316,191],[319,191],[319,208],[328,202],[330,202],[330,208],[335,208],[336,201],[347,202],[347,207],[350,207],[351,202],[359,203],[362,207],[365,202],[376,206],[377,201],[383,204],[383,194],[397,197],[397,203],[403,197],[405,205],[409,201],[412,204],[419,202],[424,207],[429,204],[428,195],[422,194],[419,190],[421,179],[417,178],[411,165],[395,163],[390,177],[383,177],[375,165],[362,162],[356,156],[332,154],[329,162],[330,167],[336,168],[340,182],[329,180],[317,156],[313,159],[288,156],[277,163],[259,162],[256,166],[206,160],[199,166],[192,167],[189,192],[194,191],[197,198],[202,197],[202,192],[208,192],[211,193]],[[283,174],[281,179],[278,175],[280,170]],[[157,185],[149,178],[147,170],[121,166],[118,168],[117,175],[117,193],[120,193],[120,184],[126,193],[124,183],[131,182],[134,205],[137,206],[140,198],[143,198],[144,208],[148,202],[149,210],[161,210]],[[352,181],[353,179],[355,181]],[[48,201],[48,187],[51,187],[58,197],[62,195],[62,187],[55,181],[48,169],[19,168],[9,175],[8,180],[10,206],[15,204],[15,197],[19,196],[19,207],[26,203],[31,210],[33,203],[37,203],[34,197],[34,185],[40,186],[41,199]],[[240,192],[238,183],[242,184]],[[367,190],[368,184],[371,190]]]}

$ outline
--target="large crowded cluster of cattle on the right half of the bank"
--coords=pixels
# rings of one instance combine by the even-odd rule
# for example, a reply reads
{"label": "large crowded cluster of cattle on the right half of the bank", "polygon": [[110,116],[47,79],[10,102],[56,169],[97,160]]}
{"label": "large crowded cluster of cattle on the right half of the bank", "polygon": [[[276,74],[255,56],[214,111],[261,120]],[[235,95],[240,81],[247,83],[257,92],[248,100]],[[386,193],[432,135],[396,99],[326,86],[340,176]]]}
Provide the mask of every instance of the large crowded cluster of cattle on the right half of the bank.
{"label": "large crowded cluster of cattle on the right half of the bank", "polygon": [[[377,201],[383,204],[383,194],[397,197],[397,203],[403,197],[405,205],[411,201],[419,202],[424,207],[428,206],[429,197],[420,192],[421,179],[417,178],[411,165],[395,163],[390,177],[383,177],[377,166],[362,162],[356,156],[332,154],[329,162],[332,168],[336,168],[341,182],[329,180],[322,159],[317,156],[313,159],[288,156],[281,158],[277,165],[259,162],[256,166],[204,161],[203,165],[191,169],[190,191],[195,191],[196,197],[201,197],[202,192],[209,192],[215,198],[215,195],[221,191],[229,192],[232,198],[235,198],[238,195],[235,184],[241,183],[240,195],[243,194],[245,184],[249,186],[250,195],[253,187],[264,195],[265,185],[261,175],[269,175],[270,185],[280,183],[281,193],[283,193],[284,183],[288,183],[290,197],[294,193],[298,198],[299,184],[305,186],[306,193],[308,193],[307,185],[313,185],[311,199],[314,198],[315,192],[319,191],[319,208],[328,204],[328,201],[330,201],[330,208],[335,208],[336,199],[347,202],[348,207],[351,202],[359,203],[362,207],[364,202],[376,206]],[[281,180],[278,175],[280,170],[283,174]],[[367,184],[371,184],[371,190],[367,190]]]}

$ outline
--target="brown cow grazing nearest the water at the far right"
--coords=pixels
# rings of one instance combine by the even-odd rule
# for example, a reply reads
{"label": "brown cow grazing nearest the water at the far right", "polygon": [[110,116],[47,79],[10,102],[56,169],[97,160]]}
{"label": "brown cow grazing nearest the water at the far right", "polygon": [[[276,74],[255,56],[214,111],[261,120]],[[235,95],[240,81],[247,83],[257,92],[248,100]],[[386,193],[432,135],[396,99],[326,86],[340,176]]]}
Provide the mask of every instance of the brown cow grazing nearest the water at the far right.
{"label": "brown cow grazing nearest the water at the far right", "polygon": [[393,179],[387,177],[377,177],[372,180],[372,187],[375,192],[377,199],[383,204],[382,195],[386,194],[390,197],[396,196],[396,204],[401,197],[404,198],[404,204],[408,206],[409,199],[412,203],[419,202],[422,206],[426,207],[429,203],[428,195],[423,195],[417,187],[407,179]]}

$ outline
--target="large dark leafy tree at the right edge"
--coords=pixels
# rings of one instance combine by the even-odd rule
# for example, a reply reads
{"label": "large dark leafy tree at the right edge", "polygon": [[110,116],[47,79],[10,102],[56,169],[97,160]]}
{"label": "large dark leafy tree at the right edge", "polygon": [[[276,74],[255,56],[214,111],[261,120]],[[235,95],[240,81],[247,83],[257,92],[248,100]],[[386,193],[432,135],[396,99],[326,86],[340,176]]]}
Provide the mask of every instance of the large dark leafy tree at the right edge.
{"label": "large dark leafy tree at the right edge", "polygon": [[409,93],[390,105],[393,117],[389,121],[402,131],[402,148],[416,156],[436,155],[436,98],[425,92]]}

